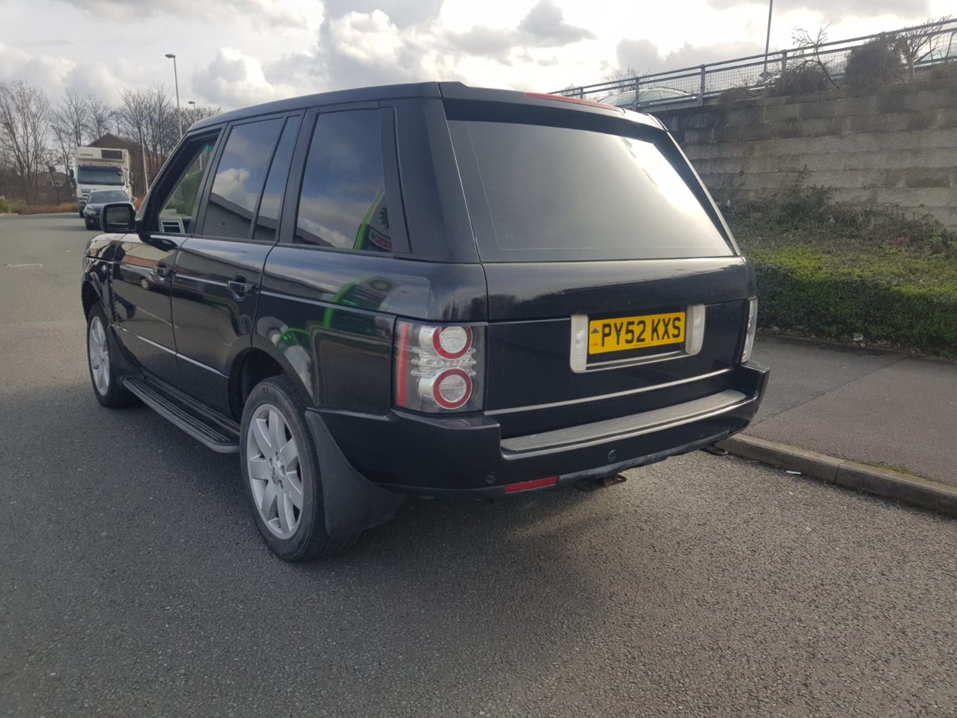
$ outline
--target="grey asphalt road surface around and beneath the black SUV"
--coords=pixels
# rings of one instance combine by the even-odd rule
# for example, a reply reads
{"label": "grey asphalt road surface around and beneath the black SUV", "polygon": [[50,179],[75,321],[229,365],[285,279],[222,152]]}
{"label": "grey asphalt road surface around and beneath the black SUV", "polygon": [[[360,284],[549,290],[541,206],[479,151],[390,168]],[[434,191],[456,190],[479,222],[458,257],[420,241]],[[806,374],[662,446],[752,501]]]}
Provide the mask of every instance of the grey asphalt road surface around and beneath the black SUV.
{"label": "grey asphalt road surface around and beneath the black SUV", "polygon": [[742,460],[282,563],[234,456],[94,399],[90,234],[0,218],[3,714],[957,714],[957,522]]}

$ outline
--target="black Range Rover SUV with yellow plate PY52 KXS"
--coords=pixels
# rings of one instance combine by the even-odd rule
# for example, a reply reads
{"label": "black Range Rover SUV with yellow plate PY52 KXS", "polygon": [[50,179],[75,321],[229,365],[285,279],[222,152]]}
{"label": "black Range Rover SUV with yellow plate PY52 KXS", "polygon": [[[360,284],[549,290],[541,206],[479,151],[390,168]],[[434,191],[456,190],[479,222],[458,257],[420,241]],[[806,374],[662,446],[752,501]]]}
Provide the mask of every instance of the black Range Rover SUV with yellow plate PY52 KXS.
{"label": "black Range Rover SUV with yellow plate PY52 KXS", "polygon": [[754,277],[652,117],[421,83],[190,127],[82,303],[100,403],[238,452],[288,560],[404,495],[602,481],[743,429]]}

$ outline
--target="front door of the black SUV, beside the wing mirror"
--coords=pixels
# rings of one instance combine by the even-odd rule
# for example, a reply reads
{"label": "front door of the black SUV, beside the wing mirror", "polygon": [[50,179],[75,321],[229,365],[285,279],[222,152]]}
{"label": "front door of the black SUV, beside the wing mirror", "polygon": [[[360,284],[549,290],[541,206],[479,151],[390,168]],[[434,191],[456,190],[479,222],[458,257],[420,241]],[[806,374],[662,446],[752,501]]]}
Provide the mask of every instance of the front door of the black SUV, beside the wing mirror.
{"label": "front door of the black SUV, beside the wing mirror", "polygon": [[177,149],[157,178],[141,232],[123,236],[114,265],[114,319],[123,346],[142,369],[171,384],[179,383],[170,306],[172,269],[191,231],[215,143],[213,132]]}

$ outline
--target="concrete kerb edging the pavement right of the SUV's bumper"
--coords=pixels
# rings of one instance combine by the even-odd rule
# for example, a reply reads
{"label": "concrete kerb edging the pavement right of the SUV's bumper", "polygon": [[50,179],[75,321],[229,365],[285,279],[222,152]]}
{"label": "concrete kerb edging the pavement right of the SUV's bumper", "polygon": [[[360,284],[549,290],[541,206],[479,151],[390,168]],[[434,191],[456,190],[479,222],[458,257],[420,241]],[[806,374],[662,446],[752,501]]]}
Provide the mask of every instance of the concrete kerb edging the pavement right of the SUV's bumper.
{"label": "concrete kerb edging the pavement right of the SUV's bumper", "polygon": [[741,434],[718,446],[743,459],[957,517],[957,488],[945,483]]}

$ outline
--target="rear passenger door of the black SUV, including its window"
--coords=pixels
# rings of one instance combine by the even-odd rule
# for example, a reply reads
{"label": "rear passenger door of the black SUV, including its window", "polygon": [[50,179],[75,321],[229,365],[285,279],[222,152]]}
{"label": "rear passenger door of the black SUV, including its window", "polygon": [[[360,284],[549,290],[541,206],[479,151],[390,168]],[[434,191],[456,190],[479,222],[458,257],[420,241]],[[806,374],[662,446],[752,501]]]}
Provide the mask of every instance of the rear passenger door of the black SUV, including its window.
{"label": "rear passenger door of the black SUV, including its window", "polygon": [[299,128],[298,115],[229,128],[203,194],[200,226],[176,256],[172,319],[182,386],[224,411],[234,360],[250,347]]}

